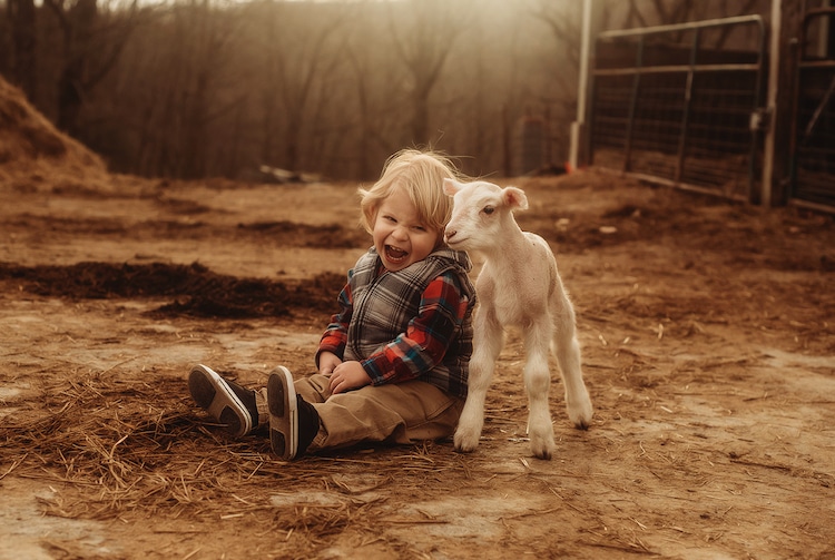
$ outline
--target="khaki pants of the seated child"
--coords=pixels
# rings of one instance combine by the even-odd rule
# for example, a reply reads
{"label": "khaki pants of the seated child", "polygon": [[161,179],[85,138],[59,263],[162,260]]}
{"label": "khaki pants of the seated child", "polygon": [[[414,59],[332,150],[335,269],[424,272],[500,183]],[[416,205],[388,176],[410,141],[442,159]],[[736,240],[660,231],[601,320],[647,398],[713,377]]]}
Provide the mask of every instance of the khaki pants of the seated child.
{"label": "khaki pants of the seated child", "polygon": [[330,377],[315,373],[296,380],[302,399],[320,415],[320,430],[307,452],[357,443],[405,444],[452,435],[464,400],[423,381],[366,385],[332,395]]}

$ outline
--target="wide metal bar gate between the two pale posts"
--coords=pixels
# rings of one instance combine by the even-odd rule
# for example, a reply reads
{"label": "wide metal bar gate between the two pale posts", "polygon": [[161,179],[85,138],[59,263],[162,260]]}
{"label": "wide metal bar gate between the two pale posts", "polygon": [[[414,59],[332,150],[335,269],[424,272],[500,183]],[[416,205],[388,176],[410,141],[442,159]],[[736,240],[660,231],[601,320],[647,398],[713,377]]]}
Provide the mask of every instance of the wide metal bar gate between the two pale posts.
{"label": "wide metal bar gate between the two pale posts", "polygon": [[591,165],[750,200],[768,120],[760,109],[764,57],[759,16],[601,32],[591,71]]}

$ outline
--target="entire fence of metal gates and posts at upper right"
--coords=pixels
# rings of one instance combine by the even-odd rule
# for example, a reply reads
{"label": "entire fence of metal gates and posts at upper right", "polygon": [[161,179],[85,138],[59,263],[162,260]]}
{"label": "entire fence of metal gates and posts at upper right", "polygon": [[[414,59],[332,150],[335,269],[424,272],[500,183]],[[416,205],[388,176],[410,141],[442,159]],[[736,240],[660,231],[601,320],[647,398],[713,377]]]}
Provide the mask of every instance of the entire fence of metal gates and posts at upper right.
{"label": "entire fence of metal gates and posts at upper right", "polygon": [[767,17],[600,32],[593,1],[584,0],[572,165],[835,212],[828,0],[772,0]]}

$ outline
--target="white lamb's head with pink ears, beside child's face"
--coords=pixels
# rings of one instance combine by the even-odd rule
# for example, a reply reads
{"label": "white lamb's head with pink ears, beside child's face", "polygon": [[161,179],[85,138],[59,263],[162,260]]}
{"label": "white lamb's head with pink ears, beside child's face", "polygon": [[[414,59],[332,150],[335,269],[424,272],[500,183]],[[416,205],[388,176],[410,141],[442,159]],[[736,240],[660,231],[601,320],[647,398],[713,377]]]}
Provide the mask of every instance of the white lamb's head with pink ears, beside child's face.
{"label": "white lamb's head with pink ears, beside child's face", "polygon": [[455,249],[489,250],[503,230],[519,229],[513,210],[528,208],[528,197],[517,187],[444,179],[443,190],[453,197],[452,217],[443,237]]}

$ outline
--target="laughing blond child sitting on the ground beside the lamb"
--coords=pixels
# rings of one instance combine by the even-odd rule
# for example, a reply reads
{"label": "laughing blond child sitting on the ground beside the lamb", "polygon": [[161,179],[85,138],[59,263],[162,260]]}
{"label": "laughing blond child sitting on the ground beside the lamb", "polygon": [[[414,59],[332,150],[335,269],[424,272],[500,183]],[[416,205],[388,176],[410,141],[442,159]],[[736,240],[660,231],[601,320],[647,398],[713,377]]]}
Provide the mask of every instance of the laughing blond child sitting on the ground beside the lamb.
{"label": "laughing blond child sitting on the ground beside the lamb", "polygon": [[269,430],[285,461],[358,443],[405,444],[451,435],[466,397],[475,289],[463,252],[443,243],[458,175],[431,151],[392,156],[360,189],[374,245],[348,271],[316,351],[317,372],[294,382],[276,367],[245,389],[196,365],[191,397],[235,436]]}

